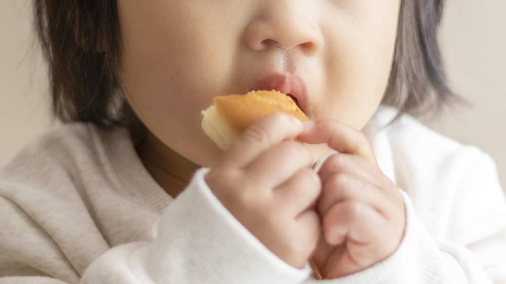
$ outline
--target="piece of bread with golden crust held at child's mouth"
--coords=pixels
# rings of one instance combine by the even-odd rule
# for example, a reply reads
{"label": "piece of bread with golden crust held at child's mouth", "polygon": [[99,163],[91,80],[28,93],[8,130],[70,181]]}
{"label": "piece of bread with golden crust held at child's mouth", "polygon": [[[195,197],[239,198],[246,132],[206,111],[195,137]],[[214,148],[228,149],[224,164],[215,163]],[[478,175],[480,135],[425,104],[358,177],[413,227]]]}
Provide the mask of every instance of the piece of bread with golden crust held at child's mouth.
{"label": "piece of bread with golden crust held at child's mouth", "polygon": [[273,111],[290,114],[301,121],[309,120],[290,97],[277,90],[218,96],[213,102],[201,112],[202,129],[222,150],[251,124]]}

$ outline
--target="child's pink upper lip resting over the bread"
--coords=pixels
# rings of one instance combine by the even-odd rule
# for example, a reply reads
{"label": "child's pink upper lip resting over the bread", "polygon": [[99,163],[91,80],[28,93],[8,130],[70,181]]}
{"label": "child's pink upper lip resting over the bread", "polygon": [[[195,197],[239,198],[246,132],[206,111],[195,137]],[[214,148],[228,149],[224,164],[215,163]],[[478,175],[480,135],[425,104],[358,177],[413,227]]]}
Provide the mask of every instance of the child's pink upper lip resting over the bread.
{"label": "child's pink upper lip resting over the bread", "polygon": [[306,112],[307,92],[303,80],[296,74],[273,73],[263,77],[257,83],[256,90],[278,90],[297,99],[299,108]]}

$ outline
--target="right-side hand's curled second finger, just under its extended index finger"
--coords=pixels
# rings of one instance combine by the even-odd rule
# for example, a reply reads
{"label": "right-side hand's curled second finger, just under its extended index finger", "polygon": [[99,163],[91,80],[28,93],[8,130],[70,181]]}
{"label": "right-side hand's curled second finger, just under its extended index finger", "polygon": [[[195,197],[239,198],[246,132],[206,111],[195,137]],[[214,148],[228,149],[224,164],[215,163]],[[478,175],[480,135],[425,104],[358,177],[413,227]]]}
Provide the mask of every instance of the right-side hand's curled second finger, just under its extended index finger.
{"label": "right-side hand's curled second finger, just under its extended index finger", "polygon": [[381,169],[357,155],[334,153],[325,160],[318,170],[322,183],[325,183],[335,173],[353,175],[380,188],[385,185],[384,179],[386,177]]}

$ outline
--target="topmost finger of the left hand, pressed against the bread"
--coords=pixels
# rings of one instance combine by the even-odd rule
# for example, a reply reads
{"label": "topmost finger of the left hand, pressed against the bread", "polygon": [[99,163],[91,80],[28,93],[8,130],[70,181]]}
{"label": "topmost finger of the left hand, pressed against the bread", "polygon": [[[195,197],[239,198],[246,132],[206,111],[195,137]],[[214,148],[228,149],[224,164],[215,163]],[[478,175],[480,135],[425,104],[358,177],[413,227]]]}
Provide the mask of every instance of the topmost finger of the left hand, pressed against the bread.
{"label": "topmost finger of the left hand, pressed against the bread", "polygon": [[243,168],[262,151],[296,137],[302,131],[302,122],[282,112],[272,112],[242,132],[221,156],[220,164]]}

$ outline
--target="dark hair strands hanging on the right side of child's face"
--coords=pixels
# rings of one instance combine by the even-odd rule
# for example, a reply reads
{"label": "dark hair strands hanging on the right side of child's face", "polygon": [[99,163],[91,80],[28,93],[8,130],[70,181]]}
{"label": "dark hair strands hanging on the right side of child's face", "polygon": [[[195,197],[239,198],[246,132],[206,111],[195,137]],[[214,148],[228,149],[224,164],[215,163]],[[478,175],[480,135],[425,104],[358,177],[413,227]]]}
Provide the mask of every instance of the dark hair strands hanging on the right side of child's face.
{"label": "dark hair strands hanging on the right side of child's face", "polygon": [[415,117],[469,105],[449,87],[438,44],[444,0],[402,0],[394,60],[382,103]]}

